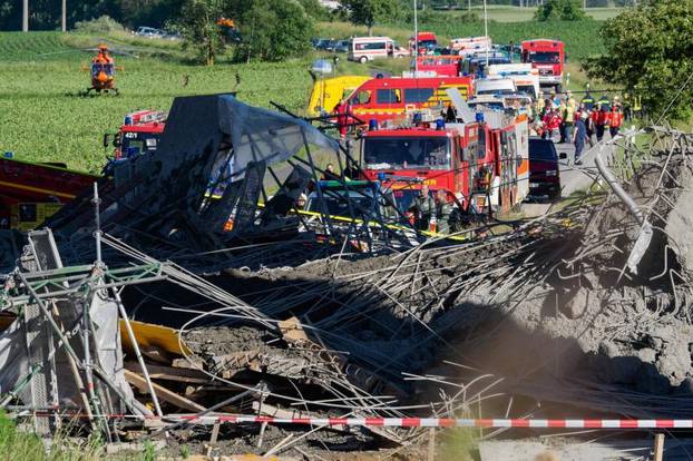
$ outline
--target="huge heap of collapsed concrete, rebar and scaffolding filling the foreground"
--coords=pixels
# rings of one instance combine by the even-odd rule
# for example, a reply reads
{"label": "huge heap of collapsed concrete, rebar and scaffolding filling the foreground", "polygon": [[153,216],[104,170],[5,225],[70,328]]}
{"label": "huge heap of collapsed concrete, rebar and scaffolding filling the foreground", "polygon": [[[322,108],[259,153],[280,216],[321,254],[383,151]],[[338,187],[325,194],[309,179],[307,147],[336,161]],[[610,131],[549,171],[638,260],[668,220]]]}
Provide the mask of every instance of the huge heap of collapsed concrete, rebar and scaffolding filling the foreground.
{"label": "huge heap of collapsed concrete, rebar and scaffolding filling the foreground", "polygon": [[[693,411],[690,135],[652,128],[645,151],[619,141],[624,158],[611,167],[653,228],[633,271],[628,258],[642,226],[598,176],[584,195],[511,230],[482,224],[463,241],[424,241],[410,230],[377,235],[335,225],[332,242],[318,242],[299,230],[291,205],[275,200],[272,216],[258,207],[264,171],[296,156],[308,138],[349,163],[346,151],[305,122],[223,97],[183,99],[174,120],[176,111],[187,122],[201,118],[208,130],[172,124],[162,154],[125,164],[114,184],[99,185],[96,245],[95,204],[85,196],[48,223],[52,233],[41,235],[50,238],[36,234],[27,246],[35,258],[57,255],[60,264],[19,267],[4,278],[0,305],[17,320],[0,337],[0,402],[17,418],[49,421],[39,424],[43,433],[87,412],[84,426],[111,442],[168,435],[172,452],[191,444],[207,455],[339,459],[381,450],[421,459],[429,433],[420,429],[205,425],[177,415],[684,418]],[[274,124],[274,137],[271,146],[260,140],[251,148],[254,136],[264,139],[252,128],[258,117]],[[236,159],[242,177],[215,192],[206,178],[219,154]],[[313,167],[294,165],[279,185],[287,203],[292,184],[315,180]],[[209,194],[222,198],[209,204]],[[232,212],[233,230],[224,233]],[[361,238],[365,252],[348,245]],[[68,303],[75,318],[61,307]],[[94,305],[97,328],[77,334],[84,333],[77,318],[89,322],[81,310],[88,303],[110,303],[119,336],[101,340],[107,328]],[[124,357],[119,341],[130,337],[130,322],[138,328],[144,322],[148,333],[134,334]],[[41,342],[64,351],[66,334],[74,356],[60,352],[53,361],[48,349],[36,355]],[[10,359],[20,342],[28,353]],[[70,356],[72,366],[58,373]],[[17,360],[25,374],[48,362],[41,377],[55,390],[46,394],[10,374]],[[81,399],[84,386],[66,376],[89,377],[95,367],[97,392]],[[104,411],[133,418],[99,423],[94,415]]]}

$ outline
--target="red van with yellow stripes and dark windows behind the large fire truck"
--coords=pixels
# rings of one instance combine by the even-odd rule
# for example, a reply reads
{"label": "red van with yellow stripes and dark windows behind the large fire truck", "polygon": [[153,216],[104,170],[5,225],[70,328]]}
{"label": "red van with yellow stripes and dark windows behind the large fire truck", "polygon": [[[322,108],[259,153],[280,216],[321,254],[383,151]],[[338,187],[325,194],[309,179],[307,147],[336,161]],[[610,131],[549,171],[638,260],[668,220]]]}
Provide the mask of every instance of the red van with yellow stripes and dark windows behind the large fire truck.
{"label": "red van with yellow stripes and dark windows behind the large fire truck", "polygon": [[446,89],[457,88],[467,99],[474,94],[471,77],[374,78],[349,97],[350,114],[368,124],[406,118],[418,109],[442,110],[450,101]]}

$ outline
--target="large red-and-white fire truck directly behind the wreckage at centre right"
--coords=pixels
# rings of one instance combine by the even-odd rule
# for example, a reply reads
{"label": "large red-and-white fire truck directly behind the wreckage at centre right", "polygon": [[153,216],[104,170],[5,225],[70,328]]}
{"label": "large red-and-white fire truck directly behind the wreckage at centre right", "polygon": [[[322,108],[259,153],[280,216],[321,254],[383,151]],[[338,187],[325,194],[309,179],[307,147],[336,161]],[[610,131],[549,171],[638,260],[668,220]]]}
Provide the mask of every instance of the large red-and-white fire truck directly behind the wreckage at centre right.
{"label": "large red-and-white fire truck directly behind the wreckage at centre right", "polygon": [[461,212],[507,210],[529,192],[527,118],[489,115],[472,124],[424,122],[369,130],[361,143],[365,178],[391,188],[402,210],[422,185],[445,189]]}

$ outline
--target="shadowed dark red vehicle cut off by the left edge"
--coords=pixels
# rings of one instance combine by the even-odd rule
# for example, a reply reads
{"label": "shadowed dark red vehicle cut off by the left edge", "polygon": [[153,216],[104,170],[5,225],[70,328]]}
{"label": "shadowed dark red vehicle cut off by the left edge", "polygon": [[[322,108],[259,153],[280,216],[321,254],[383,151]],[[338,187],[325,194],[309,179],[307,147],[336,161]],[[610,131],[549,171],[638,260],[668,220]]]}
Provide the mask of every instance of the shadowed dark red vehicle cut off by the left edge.
{"label": "shadowed dark red vehicle cut off by the left edge", "polygon": [[0,158],[0,227],[36,228],[97,178],[65,165]]}

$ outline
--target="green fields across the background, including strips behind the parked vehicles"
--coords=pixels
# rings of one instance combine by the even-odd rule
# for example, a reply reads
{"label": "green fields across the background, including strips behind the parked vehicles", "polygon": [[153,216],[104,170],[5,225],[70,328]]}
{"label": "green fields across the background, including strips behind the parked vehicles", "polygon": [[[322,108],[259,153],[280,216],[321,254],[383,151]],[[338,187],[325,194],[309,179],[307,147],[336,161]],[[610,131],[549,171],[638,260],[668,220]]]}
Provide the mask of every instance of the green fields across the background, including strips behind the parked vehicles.
{"label": "green fields across the background, including strips behind the parked vehicles", "polygon": [[[492,23],[489,32],[497,42],[526,38],[553,37],[566,42],[570,56],[573,88],[584,85],[577,61],[599,52],[594,39],[597,21],[576,23]],[[430,23],[422,28],[441,37],[482,33],[478,23]],[[320,23],[323,37],[349,37],[365,31],[348,23]],[[377,28],[406,42],[409,27]],[[241,77],[238,97],[252,105],[270,107],[270,101],[302,112],[312,85],[308,73],[319,55],[281,63],[232,65],[223,59],[213,68],[189,63],[189,57],[172,41],[136,39],[127,33],[107,37],[109,43],[127,48],[139,56],[117,58],[125,70],[118,73],[120,96],[84,98],[75,96],[89,86],[89,73],[82,70],[90,52],[101,38],[58,32],[0,32],[0,153],[12,151],[17,158],[38,161],[64,161],[69,167],[99,171],[109,154],[101,146],[105,133],[115,133],[125,114],[138,109],[167,110],[176,96],[231,91],[235,75]],[[348,62],[342,55],[339,73],[370,73],[406,70],[408,59],[361,66]],[[188,85],[184,87],[184,76]]]}

